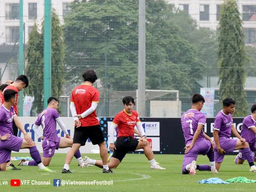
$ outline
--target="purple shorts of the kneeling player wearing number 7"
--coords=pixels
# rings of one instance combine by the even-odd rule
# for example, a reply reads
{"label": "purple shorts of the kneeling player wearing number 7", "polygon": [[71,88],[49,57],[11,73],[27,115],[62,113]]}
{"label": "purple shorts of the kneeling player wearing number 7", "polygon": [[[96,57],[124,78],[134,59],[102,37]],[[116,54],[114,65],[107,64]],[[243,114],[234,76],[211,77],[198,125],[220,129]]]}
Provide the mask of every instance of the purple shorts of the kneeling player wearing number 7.
{"label": "purple shorts of the kneeling player wearing number 7", "polygon": [[196,141],[194,147],[184,155],[182,167],[196,161],[198,155],[206,155],[211,149],[211,142],[204,139]]}

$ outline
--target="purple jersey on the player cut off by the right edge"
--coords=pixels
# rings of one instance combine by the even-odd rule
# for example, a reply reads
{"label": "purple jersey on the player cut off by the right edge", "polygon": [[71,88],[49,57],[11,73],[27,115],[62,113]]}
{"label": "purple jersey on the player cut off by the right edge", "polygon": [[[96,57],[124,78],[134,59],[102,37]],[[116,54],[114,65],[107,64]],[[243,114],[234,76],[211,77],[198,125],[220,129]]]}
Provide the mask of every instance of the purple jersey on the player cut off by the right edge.
{"label": "purple jersey on the player cut off by the right edge", "polygon": [[254,121],[251,115],[244,118],[241,137],[246,139],[246,142],[248,142],[249,145],[253,145],[256,141],[255,133],[252,130],[250,130],[250,128],[254,126],[256,126],[256,122]]}

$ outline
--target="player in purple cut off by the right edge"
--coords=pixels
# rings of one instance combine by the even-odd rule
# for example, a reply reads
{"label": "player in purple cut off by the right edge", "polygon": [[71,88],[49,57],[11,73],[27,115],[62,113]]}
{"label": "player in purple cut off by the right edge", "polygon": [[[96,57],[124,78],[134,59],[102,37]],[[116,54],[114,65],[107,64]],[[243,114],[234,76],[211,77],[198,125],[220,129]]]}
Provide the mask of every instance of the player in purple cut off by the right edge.
{"label": "player in purple cut off by the right edge", "polygon": [[[251,107],[252,115],[249,115],[244,118],[241,137],[246,139],[249,143],[251,149],[251,155],[254,158],[254,162],[256,161],[256,104],[252,105]],[[239,154],[235,158],[236,164],[243,164],[246,160],[243,150],[239,150]]]}

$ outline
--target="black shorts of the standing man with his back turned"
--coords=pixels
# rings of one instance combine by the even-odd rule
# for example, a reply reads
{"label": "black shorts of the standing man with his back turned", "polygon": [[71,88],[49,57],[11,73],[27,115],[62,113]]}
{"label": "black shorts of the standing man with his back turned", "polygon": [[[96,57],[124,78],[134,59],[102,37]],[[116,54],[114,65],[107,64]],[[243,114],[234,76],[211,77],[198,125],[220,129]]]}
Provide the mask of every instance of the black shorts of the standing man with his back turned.
{"label": "black shorts of the standing man with his back turned", "polygon": [[73,143],[79,143],[84,146],[88,138],[93,145],[98,145],[105,141],[100,125],[75,127]]}

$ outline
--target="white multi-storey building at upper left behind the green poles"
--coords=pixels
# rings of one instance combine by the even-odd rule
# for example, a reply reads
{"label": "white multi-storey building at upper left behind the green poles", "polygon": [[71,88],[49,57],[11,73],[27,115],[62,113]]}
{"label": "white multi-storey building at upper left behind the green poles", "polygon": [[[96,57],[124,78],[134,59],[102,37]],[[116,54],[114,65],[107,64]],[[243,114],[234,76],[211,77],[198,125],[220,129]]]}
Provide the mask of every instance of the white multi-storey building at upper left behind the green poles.
{"label": "white multi-storey building at upper left behind the green poles", "polygon": [[[63,22],[63,16],[70,11],[67,5],[72,1],[52,0],[52,8],[57,11],[61,22]],[[0,1],[0,77],[4,72],[2,83],[6,79],[16,78],[19,72],[19,3],[19,0]],[[24,36],[25,43],[27,43],[28,35],[33,29],[34,23],[36,22],[39,27],[41,26],[44,17],[44,0],[23,0],[23,15]]]}

